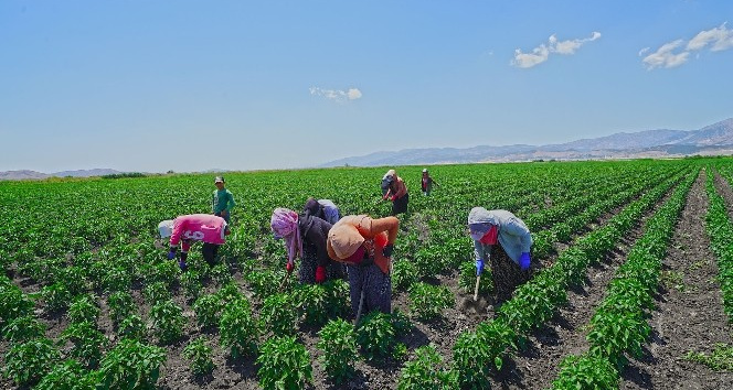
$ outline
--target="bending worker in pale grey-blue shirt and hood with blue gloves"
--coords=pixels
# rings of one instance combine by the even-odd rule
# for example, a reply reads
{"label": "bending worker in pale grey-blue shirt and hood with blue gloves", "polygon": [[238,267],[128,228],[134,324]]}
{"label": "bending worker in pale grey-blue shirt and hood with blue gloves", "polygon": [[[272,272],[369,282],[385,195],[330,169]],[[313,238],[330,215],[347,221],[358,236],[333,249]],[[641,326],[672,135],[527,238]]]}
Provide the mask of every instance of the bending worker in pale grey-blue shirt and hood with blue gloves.
{"label": "bending worker in pale grey-blue shirt and hood with blue gloves", "polygon": [[474,239],[476,275],[484,272],[485,262],[490,260],[497,301],[509,300],[514,288],[529,280],[530,230],[510,212],[484,207],[471,208],[468,228]]}

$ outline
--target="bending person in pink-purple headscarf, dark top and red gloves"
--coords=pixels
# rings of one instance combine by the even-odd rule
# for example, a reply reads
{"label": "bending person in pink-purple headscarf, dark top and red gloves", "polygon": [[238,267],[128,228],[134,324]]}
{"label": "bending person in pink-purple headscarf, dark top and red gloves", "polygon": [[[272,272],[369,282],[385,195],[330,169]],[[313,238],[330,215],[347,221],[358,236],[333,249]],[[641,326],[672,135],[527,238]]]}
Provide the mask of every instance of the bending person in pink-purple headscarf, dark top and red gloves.
{"label": "bending person in pink-purple headscarf, dark top and red gloves", "polygon": [[326,237],[331,224],[311,216],[308,210],[297,214],[289,208],[276,208],[270,218],[270,228],[276,239],[285,241],[288,252],[285,269],[288,273],[295,268],[295,259],[301,257],[298,271],[300,283],[323,283],[327,279],[343,278],[343,264],[332,261],[326,250]]}

